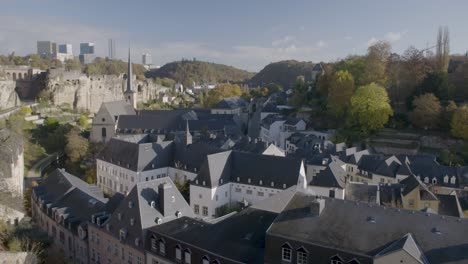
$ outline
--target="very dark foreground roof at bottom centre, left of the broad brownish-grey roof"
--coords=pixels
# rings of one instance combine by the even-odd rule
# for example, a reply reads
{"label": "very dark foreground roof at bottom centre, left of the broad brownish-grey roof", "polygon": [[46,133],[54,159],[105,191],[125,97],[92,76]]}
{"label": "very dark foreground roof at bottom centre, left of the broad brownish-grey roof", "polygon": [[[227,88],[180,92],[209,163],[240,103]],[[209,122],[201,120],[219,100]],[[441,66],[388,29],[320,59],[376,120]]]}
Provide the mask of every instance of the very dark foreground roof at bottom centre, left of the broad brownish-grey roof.
{"label": "very dark foreground roof at bottom centre, left of the broad brownish-grey roof", "polygon": [[192,252],[210,252],[238,263],[263,263],[265,232],[277,215],[247,208],[215,224],[183,217],[152,227],[150,233],[192,247]]}

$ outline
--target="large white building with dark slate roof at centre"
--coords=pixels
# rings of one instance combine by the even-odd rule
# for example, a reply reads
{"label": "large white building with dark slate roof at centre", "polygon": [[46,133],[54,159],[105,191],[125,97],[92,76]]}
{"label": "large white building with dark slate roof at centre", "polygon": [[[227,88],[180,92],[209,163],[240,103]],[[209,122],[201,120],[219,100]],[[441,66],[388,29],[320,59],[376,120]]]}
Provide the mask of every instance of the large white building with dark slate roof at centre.
{"label": "large white building with dark slate roof at centre", "polygon": [[306,189],[300,160],[238,151],[211,154],[190,183],[195,215],[211,219],[226,206],[248,205],[292,186]]}

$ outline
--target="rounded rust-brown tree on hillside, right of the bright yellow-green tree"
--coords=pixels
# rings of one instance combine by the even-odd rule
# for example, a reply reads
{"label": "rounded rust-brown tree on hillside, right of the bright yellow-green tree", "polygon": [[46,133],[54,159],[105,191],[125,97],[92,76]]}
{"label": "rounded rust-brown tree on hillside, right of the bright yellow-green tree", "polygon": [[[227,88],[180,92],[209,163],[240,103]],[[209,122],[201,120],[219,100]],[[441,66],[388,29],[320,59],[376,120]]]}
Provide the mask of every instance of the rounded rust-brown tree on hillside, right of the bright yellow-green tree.
{"label": "rounded rust-brown tree on hillside, right of the bright yellow-green tree", "polygon": [[442,106],[434,94],[427,93],[417,96],[413,100],[413,108],[409,116],[415,127],[434,129],[439,126]]}

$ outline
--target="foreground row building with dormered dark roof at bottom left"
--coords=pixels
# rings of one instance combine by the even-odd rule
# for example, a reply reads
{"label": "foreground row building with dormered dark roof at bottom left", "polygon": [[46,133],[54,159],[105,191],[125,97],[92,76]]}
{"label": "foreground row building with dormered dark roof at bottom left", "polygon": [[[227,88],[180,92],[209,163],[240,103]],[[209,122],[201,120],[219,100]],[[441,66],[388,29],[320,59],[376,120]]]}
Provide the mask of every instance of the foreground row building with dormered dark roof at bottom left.
{"label": "foreground row building with dormered dark roof at bottom left", "polygon": [[96,186],[57,169],[37,187],[31,197],[32,218],[72,263],[88,262],[88,219],[97,212],[111,211]]}

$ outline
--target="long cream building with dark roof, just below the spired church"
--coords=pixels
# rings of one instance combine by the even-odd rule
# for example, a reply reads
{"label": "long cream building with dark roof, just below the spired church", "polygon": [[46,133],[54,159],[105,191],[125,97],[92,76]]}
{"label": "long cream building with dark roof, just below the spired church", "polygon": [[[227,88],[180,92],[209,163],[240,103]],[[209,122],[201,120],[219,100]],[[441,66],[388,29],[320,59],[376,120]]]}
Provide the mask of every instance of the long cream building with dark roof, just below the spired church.
{"label": "long cream building with dark roof, just below the spired church", "polygon": [[220,151],[202,142],[192,144],[188,131],[174,141],[152,134],[112,138],[96,158],[97,184],[105,193],[127,194],[138,182],[153,179],[185,183],[196,177],[206,155]]}

